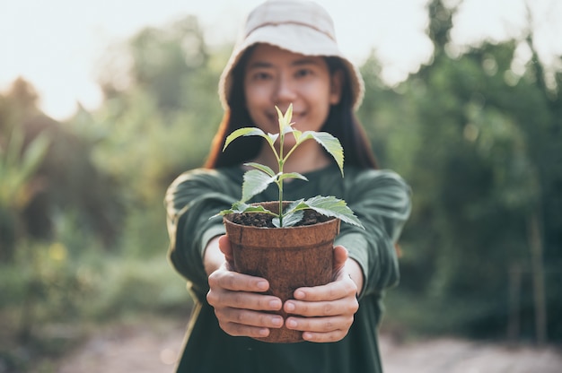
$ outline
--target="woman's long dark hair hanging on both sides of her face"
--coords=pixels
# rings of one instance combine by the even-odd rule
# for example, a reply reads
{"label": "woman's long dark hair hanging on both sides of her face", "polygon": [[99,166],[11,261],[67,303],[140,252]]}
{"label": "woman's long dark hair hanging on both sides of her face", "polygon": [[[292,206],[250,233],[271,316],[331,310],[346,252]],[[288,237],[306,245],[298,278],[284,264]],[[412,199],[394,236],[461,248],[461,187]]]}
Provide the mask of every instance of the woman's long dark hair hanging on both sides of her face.
{"label": "woman's long dark hair hanging on both sides of her face", "polygon": [[[228,108],[218,128],[211,145],[205,167],[218,169],[221,167],[235,166],[256,157],[263,139],[258,136],[248,136],[236,139],[228,145],[223,152],[226,137],[238,128],[256,126],[251,120],[246,108],[243,83],[244,66],[253,48],[248,48],[239,63],[233,69],[233,88],[228,99]],[[345,74],[342,85],[341,99],[338,104],[332,105],[321,131],[328,132],[337,137],[344,149],[345,165],[353,165],[362,169],[377,169],[377,163],[371,150],[370,143],[363,126],[359,123],[352,102],[351,86],[348,83],[347,69],[338,57],[325,57],[330,74],[338,70]]]}

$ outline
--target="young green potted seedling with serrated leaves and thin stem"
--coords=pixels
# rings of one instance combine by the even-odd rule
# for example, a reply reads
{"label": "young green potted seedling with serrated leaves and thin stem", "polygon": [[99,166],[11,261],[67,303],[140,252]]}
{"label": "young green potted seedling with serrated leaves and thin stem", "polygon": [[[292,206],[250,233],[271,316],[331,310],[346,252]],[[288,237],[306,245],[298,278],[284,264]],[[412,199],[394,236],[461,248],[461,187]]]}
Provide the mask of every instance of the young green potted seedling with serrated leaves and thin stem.
{"label": "young green potted seedling with serrated leaves and thin stem", "polygon": [[[344,176],[344,152],[339,143],[338,138],[326,132],[314,132],[305,131],[301,132],[294,129],[294,123],[291,122],[293,117],[293,105],[289,105],[289,108],[285,111],[285,115],[277,108],[277,116],[279,118],[279,133],[278,134],[266,134],[261,129],[256,127],[244,127],[237,129],[232,134],[229,134],[224,143],[224,149],[232,143],[235,139],[241,136],[260,136],[263,137],[268,143],[269,147],[275,154],[277,159],[278,169],[277,172],[268,166],[262,165],[256,162],[245,163],[246,166],[250,166],[254,169],[246,171],[244,174],[244,179],[242,183],[242,195],[241,200],[234,203],[230,210],[224,210],[218,215],[226,215],[229,213],[268,213],[274,215],[273,224],[277,227],[290,227],[294,226],[297,222],[303,219],[304,210],[311,209],[322,215],[335,217],[341,221],[346,221],[350,224],[354,224],[359,227],[363,227],[361,221],[359,221],[356,215],[351,211],[345,201],[340,200],[334,196],[321,196],[317,195],[307,200],[300,199],[292,202],[286,208],[283,208],[283,182],[288,178],[300,178],[302,180],[308,181],[303,175],[298,172],[288,172],[283,171],[283,166],[286,160],[293,154],[294,150],[303,142],[307,140],[315,140],[320,143],[321,146],[329,152],[329,154],[336,160],[339,170],[341,171],[341,176]],[[287,134],[292,134],[295,139],[295,144],[289,152],[283,153],[285,136]],[[275,147],[275,143],[279,141],[279,151]],[[264,191],[270,184],[277,184],[277,189],[279,191],[279,212],[273,213],[263,206],[256,204],[246,204],[248,200],[254,195],[258,195],[260,192]],[[216,216],[216,215],[215,215]]]}

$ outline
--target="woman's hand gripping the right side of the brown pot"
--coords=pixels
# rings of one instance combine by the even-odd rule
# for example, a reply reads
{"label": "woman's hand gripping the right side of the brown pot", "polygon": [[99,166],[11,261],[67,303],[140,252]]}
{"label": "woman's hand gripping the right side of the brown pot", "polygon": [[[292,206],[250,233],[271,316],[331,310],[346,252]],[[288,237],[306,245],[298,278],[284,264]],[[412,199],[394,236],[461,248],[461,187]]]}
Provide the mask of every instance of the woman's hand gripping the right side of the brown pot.
{"label": "woman's hand gripping the right side of the brown pot", "polygon": [[285,326],[303,331],[303,339],[309,342],[343,339],[359,308],[357,289],[362,283],[363,273],[359,265],[348,258],[347,249],[334,247],[334,281],[295,290],[294,299],[287,300],[283,306],[285,312],[292,315],[286,318]]}

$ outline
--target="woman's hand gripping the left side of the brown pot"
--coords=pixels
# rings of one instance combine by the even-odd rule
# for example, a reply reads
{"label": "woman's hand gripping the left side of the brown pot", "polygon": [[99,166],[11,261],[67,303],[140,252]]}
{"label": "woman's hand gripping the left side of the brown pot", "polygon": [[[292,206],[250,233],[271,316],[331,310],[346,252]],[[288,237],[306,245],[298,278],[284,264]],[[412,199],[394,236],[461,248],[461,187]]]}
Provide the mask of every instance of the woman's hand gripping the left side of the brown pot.
{"label": "woman's hand gripping the left side of the brown pot", "polygon": [[[260,338],[268,336],[270,328],[283,326],[283,317],[263,312],[279,311],[283,306],[281,299],[263,294],[269,289],[268,281],[232,270],[232,249],[226,236],[209,243],[206,250],[218,249],[224,255],[221,265],[218,265],[221,256],[216,252],[206,252],[205,256],[206,262],[214,260],[215,265],[218,265],[208,277],[210,290],[206,300],[215,308],[216,318],[224,332],[233,336]],[[212,267],[206,263],[207,269]]]}

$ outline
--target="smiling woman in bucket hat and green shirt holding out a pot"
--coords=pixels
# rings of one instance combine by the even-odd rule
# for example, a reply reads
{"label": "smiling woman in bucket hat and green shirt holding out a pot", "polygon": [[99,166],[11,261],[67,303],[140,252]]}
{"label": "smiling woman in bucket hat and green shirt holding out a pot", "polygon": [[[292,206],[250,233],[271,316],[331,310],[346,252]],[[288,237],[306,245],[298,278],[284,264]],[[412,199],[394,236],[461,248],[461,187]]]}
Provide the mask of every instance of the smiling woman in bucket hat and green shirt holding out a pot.
{"label": "smiling woman in bucket hat and green shirt holding out a pot", "polygon": [[[338,50],[333,24],[321,6],[270,0],[250,13],[219,83],[224,119],[205,169],[176,179],[166,195],[170,258],[196,299],[179,372],[379,372],[377,326],[382,291],[399,280],[394,245],[410,210],[409,188],[391,171],[376,169],[354,109],[363,96],[356,68]],[[241,126],[277,132],[275,106],[293,104],[299,130],[329,132],[346,155],[345,178],[316,142],[299,147],[285,172],[285,199],[335,195],[365,230],[342,224],[334,247],[334,282],[294,291],[294,299],[264,295],[268,281],[235,273],[220,218],[240,199],[246,161],[275,169],[259,139],[242,138],[222,152]],[[288,138],[287,138],[288,139]],[[291,146],[289,142],[286,146]],[[254,198],[275,200],[272,188]],[[284,308],[285,320],[275,314]],[[304,343],[262,343],[271,328],[303,332]]]}

